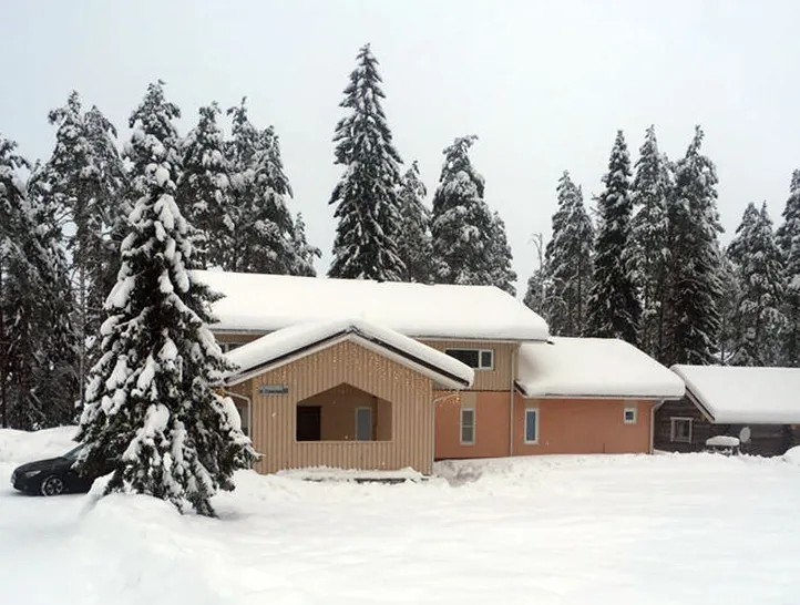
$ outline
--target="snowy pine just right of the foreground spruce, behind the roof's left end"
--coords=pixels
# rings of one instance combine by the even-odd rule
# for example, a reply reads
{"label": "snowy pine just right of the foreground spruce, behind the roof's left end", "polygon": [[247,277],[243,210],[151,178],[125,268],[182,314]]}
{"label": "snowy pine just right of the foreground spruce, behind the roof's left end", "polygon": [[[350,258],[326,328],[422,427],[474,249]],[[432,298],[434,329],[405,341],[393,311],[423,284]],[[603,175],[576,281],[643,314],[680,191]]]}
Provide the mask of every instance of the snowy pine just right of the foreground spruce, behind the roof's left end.
{"label": "snowy pine just right of the foreground spruce, behind the roof's left end", "polygon": [[216,102],[199,109],[199,122],[181,144],[182,173],[175,202],[195,229],[196,260],[203,268],[225,267],[234,239],[230,166]]}

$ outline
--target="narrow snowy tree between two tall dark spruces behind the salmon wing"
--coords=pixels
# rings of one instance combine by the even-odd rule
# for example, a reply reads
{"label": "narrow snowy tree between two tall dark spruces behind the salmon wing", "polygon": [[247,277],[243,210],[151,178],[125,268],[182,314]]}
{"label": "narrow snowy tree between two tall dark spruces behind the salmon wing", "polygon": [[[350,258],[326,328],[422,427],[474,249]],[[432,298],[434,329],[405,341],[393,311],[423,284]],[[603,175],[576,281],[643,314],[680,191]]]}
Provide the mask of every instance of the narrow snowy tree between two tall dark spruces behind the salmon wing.
{"label": "narrow snowy tree between two tall dark spruces behind the salmon wing", "polygon": [[638,345],[656,359],[661,359],[664,349],[669,188],[669,162],[659,153],[656,131],[650,126],[639,150],[630,188],[634,208],[638,208],[630,223],[630,268],[642,301]]}

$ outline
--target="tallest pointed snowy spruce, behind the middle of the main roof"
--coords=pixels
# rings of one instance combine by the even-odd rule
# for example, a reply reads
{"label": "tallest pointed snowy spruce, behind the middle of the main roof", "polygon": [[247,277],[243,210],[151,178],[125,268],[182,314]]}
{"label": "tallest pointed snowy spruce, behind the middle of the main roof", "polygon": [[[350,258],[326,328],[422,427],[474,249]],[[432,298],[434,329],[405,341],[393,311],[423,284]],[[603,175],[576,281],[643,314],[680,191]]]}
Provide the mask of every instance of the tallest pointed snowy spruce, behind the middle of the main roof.
{"label": "tallest pointed snowy spruce, behind the middle of the main roof", "polygon": [[339,223],[328,275],[401,281],[407,274],[398,244],[401,161],[381,106],[382,80],[369,44],[356,62],[339,104],[348,114],[334,135],[336,164],[345,166],[345,174],[330,196]]}

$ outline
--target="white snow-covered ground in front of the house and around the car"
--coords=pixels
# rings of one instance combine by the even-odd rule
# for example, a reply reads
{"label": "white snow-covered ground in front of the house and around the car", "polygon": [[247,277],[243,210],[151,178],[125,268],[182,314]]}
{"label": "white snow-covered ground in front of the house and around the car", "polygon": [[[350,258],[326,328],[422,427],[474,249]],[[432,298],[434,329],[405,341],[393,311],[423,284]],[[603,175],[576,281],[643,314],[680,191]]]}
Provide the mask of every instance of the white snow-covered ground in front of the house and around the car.
{"label": "white snow-covered ground in front of the house and around the car", "polygon": [[240,473],[220,520],[42,499],[0,431],[0,603],[800,603],[800,465],[719,455],[445,463],[399,485]]}

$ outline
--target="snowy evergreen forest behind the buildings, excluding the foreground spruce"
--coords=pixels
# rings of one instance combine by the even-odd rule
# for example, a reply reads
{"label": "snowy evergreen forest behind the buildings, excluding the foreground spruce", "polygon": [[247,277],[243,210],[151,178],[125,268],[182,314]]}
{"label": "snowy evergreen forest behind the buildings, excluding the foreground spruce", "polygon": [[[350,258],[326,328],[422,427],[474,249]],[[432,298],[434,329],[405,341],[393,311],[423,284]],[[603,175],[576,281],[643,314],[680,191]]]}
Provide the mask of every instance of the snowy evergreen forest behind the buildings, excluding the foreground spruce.
{"label": "snowy evergreen forest behind the buildings, excluding the foreground spruce", "polygon": [[[403,165],[393,145],[383,98],[366,45],[334,131],[342,172],[329,201],[337,226],[328,275],[515,294],[505,225],[470,160],[478,137],[444,147],[429,206],[417,162]],[[180,116],[156,81],[124,143],[76,92],[49,114],[55,145],[45,161],[30,163],[0,136],[2,425],[69,422],[76,402],[91,399],[83,390],[89,368],[103,363],[101,325],[114,312],[106,298],[124,273],[120,250],[135,225],[144,228],[137,205],[164,187],[157,165],[186,222],[187,268],[315,275],[320,250],[289,208],[275,130],[250,122],[245,99],[225,111],[216,102],[201,107],[185,135]],[[715,166],[701,142],[698,127],[685,156],[670,161],[650,127],[632,165],[617,133],[596,213],[565,172],[525,302],[554,335],[624,338],[665,363],[798,366],[800,172],[781,226],[773,232],[766,206],[751,205],[724,250]]]}

